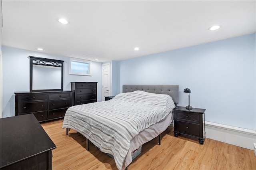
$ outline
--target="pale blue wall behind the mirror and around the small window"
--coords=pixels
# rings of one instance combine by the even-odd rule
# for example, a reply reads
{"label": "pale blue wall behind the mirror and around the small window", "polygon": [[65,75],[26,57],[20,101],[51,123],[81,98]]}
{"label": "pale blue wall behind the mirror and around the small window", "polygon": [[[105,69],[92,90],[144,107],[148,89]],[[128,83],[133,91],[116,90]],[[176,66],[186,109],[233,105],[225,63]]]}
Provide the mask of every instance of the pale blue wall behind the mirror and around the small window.
{"label": "pale blue wall behind the mirror and around the small window", "polygon": [[[70,75],[69,57],[28,51],[12,47],[1,46],[3,54],[3,113],[2,117],[11,117],[15,114],[14,91],[30,90],[30,60],[28,56],[64,60],[64,90],[71,90],[72,81],[98,82],[97,99],[101,101],[102,63],[92,62],[92,76]],[[72,56],[70,56],[72,57]]]}

